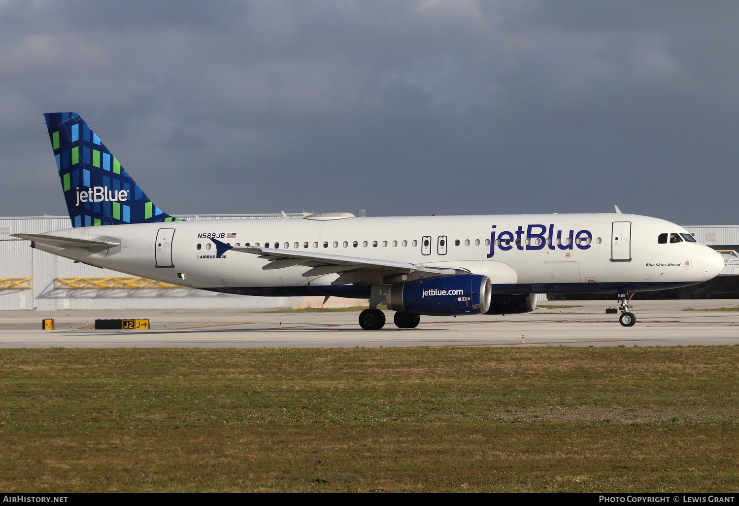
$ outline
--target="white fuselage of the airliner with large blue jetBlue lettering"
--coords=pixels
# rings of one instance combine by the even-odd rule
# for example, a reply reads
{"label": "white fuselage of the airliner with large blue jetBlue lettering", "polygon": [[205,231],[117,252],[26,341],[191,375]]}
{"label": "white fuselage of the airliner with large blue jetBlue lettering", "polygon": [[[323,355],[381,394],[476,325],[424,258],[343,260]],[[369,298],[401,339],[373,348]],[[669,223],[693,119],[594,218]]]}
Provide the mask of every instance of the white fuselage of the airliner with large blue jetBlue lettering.
{"label": "white fuselage of the airliner with large blue jetBlue lettering", "polygon": [[723,269],[721,255],[707,246],[658,243],[663,234],[687,234],[675,223],[605,213],[173,221],[50,234],[107,237],[120,246],[97,253],[41,243],[38,249],[167,283],[253,295],[364,292],[331,286],[338,274],[304,277],[306,266],[265,270],[268,260],[255,254],[228,251],[218,257],[210,237],[232,246],[466,269],[488,275],[498,293],[669,289],[701,283]]}

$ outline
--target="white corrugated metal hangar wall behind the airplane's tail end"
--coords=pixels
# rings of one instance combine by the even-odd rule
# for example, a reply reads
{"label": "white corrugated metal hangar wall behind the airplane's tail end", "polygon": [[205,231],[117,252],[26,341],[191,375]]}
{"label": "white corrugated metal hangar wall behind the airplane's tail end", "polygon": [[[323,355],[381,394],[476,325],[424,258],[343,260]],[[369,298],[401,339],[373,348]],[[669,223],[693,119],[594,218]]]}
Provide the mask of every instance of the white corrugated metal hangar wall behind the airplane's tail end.
{"label": "white corrugated metal hangar wall behind the airplane's tail end", "polygon": [[[288,215],[299,217],[302,215]],[[282,215],[181,216],[189,220],[282,218]],[[69,217],[0,217],[0,278],[31,277],[33,289],[0,289],[0,311],[18,309],[189,309],[293,307],[299,297],[246,297],[193,289],[57,289],[57,277],[130,277],[74,263],[30,247],[9,234],[69,229]]]}

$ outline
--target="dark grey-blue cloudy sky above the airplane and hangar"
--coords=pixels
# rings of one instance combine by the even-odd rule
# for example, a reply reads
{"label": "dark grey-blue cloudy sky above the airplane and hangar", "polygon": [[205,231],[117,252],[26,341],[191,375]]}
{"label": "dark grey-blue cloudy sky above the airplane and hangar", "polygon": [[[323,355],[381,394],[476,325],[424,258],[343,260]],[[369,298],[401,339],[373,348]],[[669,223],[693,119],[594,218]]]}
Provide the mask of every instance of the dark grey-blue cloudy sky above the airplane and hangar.
{"label": "dark grey-blue cloudy sky above the airplane and hangar", "polygon": [[65,215],[43,112],[171,214],[739,223],[739,2],[0,0],[0,215]]}

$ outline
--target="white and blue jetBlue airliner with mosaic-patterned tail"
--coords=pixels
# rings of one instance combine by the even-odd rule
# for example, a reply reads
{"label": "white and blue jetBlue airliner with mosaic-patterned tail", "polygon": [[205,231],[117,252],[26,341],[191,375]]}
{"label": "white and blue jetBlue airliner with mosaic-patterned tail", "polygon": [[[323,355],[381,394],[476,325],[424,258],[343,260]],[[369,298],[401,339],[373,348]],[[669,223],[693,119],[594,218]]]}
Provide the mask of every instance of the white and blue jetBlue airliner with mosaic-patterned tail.
{"label": "white and blue jetBlue airliner with mosaic-patterned tail", "polygon": [[520,314],[537,294],[585,292],[617,294],[628,327],[636,292],[702,283],[724,266],[681,226],[621,212],[185,221],[152,203],[80,115],[44,117],[72,228],[15,237],[192,289],[369,299],[365,330],[385,325],[381,303],[398,328],[415,328],[422,315]]}

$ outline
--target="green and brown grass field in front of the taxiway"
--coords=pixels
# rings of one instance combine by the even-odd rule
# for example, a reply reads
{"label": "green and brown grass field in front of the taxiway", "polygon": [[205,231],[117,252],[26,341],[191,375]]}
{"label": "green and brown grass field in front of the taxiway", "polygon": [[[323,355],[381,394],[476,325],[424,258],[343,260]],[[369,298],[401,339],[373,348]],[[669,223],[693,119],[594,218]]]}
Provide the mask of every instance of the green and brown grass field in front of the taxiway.
{"label": "green and brown grass field in front of the taxiway", "polygon": [[739,488],[739,347],[0,350],[0,489]]}

